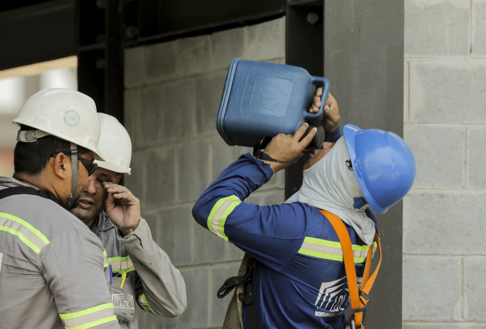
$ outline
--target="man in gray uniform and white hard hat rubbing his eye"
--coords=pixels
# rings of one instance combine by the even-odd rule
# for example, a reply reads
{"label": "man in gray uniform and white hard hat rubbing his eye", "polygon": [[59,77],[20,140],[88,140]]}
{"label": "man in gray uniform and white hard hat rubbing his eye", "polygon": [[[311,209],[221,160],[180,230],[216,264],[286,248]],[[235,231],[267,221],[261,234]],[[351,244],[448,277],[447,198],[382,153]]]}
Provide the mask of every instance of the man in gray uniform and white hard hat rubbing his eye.
{"label": "man in gray uniform and white hard hat rubbing his eye", "polygon": [[[186,308],[186,286],[167,254],[152,239],[140,217],[140,201],[118,185],[130,175],[132,144],[128,132],[110,115],[98,113],[103,162],[70,211],[103,242],[111,268],[108,286],[121,328],[137,328],[135,303],[143,311],[176,317]],[[105,209],[105,211],[104,211]]]}

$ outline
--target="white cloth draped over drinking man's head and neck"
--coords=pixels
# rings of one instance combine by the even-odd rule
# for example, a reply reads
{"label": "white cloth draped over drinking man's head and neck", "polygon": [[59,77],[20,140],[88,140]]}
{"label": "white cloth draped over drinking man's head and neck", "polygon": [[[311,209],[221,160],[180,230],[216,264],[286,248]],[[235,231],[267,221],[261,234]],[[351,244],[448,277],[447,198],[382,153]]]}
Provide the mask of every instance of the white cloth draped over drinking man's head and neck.
{"label": "white cloth draped over drinking man's head and neck", "polygon": [[351,225],[369,246],[375,236],[375,224],[364,212],[369,204],[364,201],[354,172],[348,168],[348,160],[346,141],[341,137],[328,154],[304,170],[302,187],[285,203],[300,201],[329,211]]}

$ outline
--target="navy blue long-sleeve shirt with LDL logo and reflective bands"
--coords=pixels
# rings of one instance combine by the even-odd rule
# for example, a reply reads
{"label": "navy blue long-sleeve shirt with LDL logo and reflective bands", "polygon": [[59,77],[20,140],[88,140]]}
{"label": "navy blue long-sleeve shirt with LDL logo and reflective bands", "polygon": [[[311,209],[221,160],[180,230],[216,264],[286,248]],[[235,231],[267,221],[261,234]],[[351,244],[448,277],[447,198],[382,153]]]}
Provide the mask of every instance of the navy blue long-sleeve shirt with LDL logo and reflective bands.
{"label": "navy blue long-sleeve shirt with LDL logo and reflective bands", "polygon": [[[269,165],[242,155],[201,195],[193,217],[256,258],[253,285],[260,328],[341,329],[349,293],[341,245],[330,222],[319,209],[301,202],[243,202],[272,175]],[[368,246],[345,225],[360,277]],[[243,320],[244,315],[243,309]]]}

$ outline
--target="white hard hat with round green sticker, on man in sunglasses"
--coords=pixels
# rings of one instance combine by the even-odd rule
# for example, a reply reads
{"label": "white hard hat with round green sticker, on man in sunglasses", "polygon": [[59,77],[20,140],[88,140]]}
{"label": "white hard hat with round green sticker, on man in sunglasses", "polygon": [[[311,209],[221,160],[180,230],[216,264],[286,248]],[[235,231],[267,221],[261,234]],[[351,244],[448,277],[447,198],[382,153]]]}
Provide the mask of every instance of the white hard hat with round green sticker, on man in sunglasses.
{"label": "white hard hat with round green sticker, on man in sunglasses", "polygon": [[85,147],[93,151],[96,160],[104,160],[97,147],[100,120],[96,105],[82,92],[63,88],[37,91],[24,103],[12,122],[40,130],[20,131],[17,140],[35,141],[35,138],[52,135]]}

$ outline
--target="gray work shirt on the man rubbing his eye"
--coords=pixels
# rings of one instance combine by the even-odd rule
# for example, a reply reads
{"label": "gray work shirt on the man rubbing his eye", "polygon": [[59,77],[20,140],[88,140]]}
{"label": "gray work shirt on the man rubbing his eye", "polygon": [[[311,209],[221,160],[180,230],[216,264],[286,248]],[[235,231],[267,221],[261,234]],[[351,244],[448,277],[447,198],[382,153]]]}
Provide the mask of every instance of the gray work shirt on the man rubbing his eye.
{"label": "gray work shirt on the man rubbing his eye", "polygon": [[[121,328],[137,328],[135,303],[143,311],[163,317],[178,316],[186,309],[184,278],[152,239],[145,219],[123,237],[102,212],[91,231],[102,241],[112,267],[114,276],[108,287]],[[120,288],[123,273],[126,279]]]}

